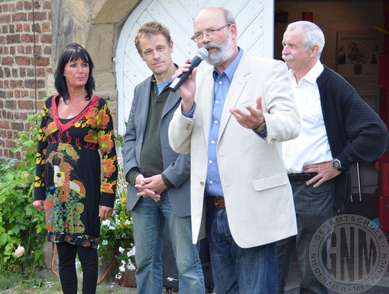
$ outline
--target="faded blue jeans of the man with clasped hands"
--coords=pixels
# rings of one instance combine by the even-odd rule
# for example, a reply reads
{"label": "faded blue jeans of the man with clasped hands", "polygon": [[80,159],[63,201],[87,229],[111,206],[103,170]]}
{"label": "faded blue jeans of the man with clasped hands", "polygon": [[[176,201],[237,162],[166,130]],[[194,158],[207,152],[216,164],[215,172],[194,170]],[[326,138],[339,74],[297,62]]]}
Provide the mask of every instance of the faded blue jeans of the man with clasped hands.
{"label": "faded blue jeans of the man with clasped hands", "polygon": [[163,288],[162,251],[165,222],[179,272],[179,293],[205,293],[199,245],[192,243],[190,216],[174,214],[166,192],[160,201],[141,197],[131,211],[135,241],[138,294],[160,294]]}

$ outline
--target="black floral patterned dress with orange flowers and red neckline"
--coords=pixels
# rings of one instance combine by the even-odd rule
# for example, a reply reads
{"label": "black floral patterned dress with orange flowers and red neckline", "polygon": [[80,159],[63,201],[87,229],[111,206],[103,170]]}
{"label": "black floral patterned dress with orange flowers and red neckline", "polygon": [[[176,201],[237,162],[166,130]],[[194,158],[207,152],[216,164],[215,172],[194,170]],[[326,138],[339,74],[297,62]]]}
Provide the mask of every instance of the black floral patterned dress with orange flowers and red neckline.
{"label": "black floral patterned dress with orange flowers and red neckline", "polygon": [[49,241],[97,248],[99,205],[113,207],[115,200],[113,120],[99,96],[73,119],[58,117],[58,101],[51,96],[43,108],[34,200],[46,200]]}

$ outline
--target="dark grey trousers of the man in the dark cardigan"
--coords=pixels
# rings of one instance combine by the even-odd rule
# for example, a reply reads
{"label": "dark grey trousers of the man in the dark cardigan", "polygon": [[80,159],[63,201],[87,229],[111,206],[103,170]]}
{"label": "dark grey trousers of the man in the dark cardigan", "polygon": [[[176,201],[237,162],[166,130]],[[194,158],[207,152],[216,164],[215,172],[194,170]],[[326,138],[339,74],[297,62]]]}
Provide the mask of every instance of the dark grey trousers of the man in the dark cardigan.
{"label": "dark grey trousers of the man in the dark cardigan", "polygon": [[[279,285],[277,294],[284,293],[290,268],[292,253],[297,249],[297,259],[301,271],[300,293],[329,293],[316,277],[309,262],[309,245],[316,230],[326,221],[335,216],[333,209],[334,189],[333,180],[324,182],[317,188],[307,186],[305,182],[290,182],[295,200],[297,217],[296,236],[277,242],[279,256]],[[326,262],[326,259],[323,259]]]}

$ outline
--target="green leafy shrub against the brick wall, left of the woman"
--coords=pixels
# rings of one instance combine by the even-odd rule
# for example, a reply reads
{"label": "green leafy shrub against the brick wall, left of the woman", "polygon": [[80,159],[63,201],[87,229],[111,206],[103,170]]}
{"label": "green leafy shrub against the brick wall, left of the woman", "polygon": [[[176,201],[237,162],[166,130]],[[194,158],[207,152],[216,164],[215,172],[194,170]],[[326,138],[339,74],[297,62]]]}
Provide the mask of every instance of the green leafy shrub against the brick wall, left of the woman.
{"label": "green leafy shrub against the brick wall, left of the woman", "polygon": [[[13,148],[14,153],[22,154],[22,161],[0,162],[0,274],[33,273],[42,263],[46,225],[44,214],[32,205],[40,116],[28,116],[28,121],[30,129],[19,134]],[[15,254],[18,246],[24,248],[20,257]]]}

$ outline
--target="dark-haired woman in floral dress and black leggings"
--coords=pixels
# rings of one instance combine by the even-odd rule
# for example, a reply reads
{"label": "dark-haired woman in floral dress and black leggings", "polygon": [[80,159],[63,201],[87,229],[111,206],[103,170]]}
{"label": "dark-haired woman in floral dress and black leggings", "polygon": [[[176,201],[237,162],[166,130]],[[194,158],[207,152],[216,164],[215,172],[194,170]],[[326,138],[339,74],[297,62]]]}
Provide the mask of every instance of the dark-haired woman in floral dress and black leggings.
{"label": "dark-haired woman in floral dress and black leggings", "polygon": [[117,181],[113,120],[104,98],[93,96],[93,62],[78,44],[58,60],[58,95],[44,103],[33,205],[45,211],[48,240],[58,250],[63,293],[77,293],[76,254],[83,293],[95,293],[100,221],[113,213]]}

